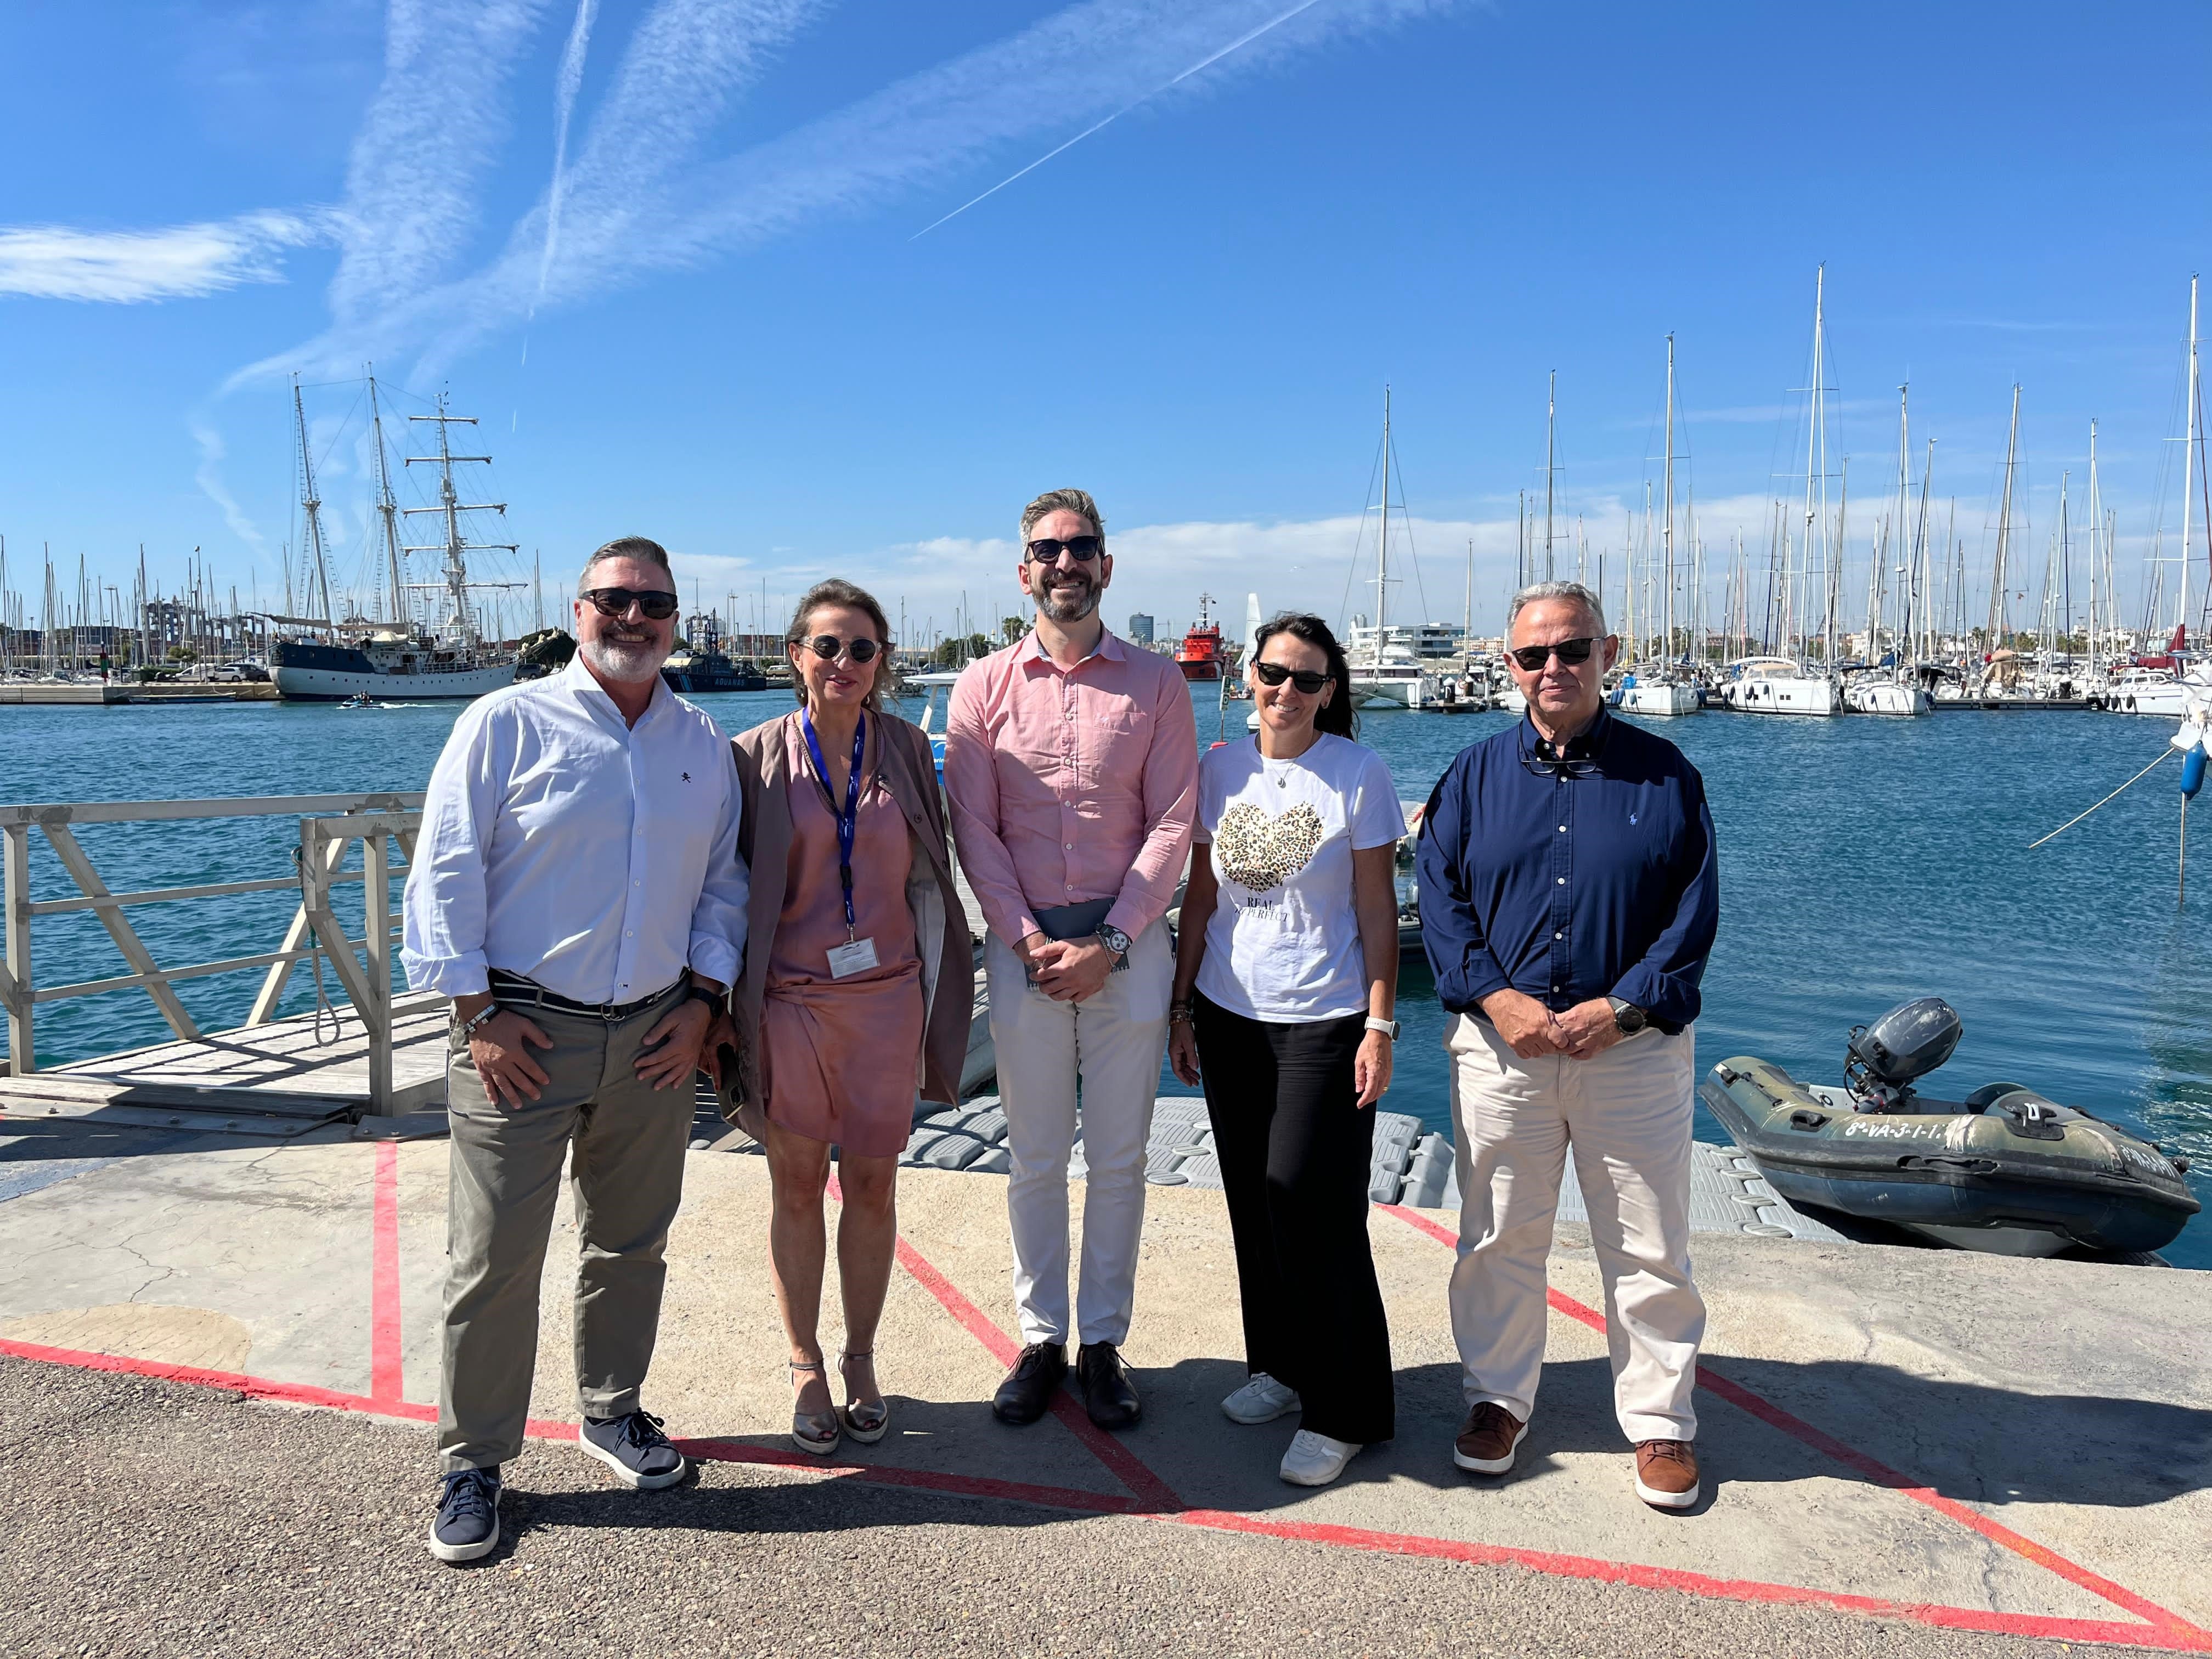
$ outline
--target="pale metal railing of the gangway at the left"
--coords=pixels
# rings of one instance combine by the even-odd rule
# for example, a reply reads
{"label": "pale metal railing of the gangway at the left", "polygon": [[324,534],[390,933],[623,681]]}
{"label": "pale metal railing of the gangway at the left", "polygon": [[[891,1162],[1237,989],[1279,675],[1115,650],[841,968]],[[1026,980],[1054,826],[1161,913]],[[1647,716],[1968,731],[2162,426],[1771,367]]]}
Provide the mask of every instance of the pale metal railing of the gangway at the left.
{"label": "pale metal railing of the gangway at the left", "polygon": [[[38,1066],[31,1015],[40,1002],[104,995],[142,989],[168,1029],[184,1042],[199,1042],[199,1022],[177,998],[177,980],[210,973],[265,969],[246,1024],[268,1024],[276,1018],[292,967],[310,956],[325,958],[338,984],[361,1018],[369,1037],[369,1110],[392,1110],[392,940],[398,916],[392,914],[392,874],[414,858],[416,830],[422,823],[422,796],[398,792],[363,794],[276,794],[210,801],[77,801],[55,805],[0,807],[0,891],[7,909],[7,960],[0,964],[0,1004],[7,1009],[9,1071],[27,1077]],[[170,823],[188,818],[299,818],[299,867],[288,876],[254,880],[219,880],[192,887],[148,887],[117,894],[93,867],[73,825],[84,823]],[[62,869],[77,887],[75,898],[31,898],[31,832],[38,830],[53,847]],[[363,843],[363,867],[341,869],[352,843]],[[392,858],[398,843],[400,860]],[[332,907],[341,885],[363,885],[363,929],[352,938]],[[219,962],[161,967],[139,938],[126,907],[161,905],[190,898],[234,898],[296,889],[301,896],[283,945],[254,956],[232,956]],[[93,911],[131,973],[71,984],[38,984],[31,971],[31,922],[38,916]],[[378,925],[378,918],[383,922]],[[361,956],[356,956],[356,951]]]}

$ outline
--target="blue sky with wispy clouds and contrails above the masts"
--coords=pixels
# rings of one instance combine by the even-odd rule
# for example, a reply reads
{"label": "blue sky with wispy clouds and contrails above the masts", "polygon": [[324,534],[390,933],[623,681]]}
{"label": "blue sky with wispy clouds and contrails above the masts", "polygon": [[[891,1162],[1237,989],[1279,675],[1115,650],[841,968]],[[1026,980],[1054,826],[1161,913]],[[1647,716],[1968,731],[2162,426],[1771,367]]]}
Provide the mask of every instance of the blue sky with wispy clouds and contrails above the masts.
{"label": "blue sky with wispy clouds and contrails above the masts", "polygon": [[403,409],[482,416],[495,540],[549,582],[641,531],[710,604],[843,573],[945,628],[962,591],[1011,608],[1020,502],[1079,482],[1117,626],[1201,588],[1340,615],[1389,383],[1394,611],[1455,619],[1475,538],[1480,622],[1551,369],[1593,549],[1657,482],[1670,330],[1705,538],[1803,495],[1827,261],[1856,557],[1909,378],[1986,568],[2020,380],[2024,544],[2095,416],[2132,597],[2179,529],[2208,60],[2194,0],[11,7],[9,582],[35,611],[40,544],[119,580],[144,542],[157,580],[199,546],[270,602],[292,369],[349,580],[334,383],[374,358]]}

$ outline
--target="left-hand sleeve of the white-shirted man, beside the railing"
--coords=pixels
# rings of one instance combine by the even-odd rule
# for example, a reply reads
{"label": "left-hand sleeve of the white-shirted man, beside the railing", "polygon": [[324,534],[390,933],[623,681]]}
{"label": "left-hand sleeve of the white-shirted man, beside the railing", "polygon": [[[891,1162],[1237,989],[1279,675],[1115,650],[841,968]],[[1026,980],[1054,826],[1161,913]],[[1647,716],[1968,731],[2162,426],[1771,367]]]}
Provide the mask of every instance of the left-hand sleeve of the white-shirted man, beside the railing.
{"label": "left-hand sleeve of the white-shirted man, beside the railing", "polygon": [[484,852],[500,812],[495,732],[482,706],[462,712],[431,768],[422,827],[400,902],[400,964],[414,991],[489,991]]}

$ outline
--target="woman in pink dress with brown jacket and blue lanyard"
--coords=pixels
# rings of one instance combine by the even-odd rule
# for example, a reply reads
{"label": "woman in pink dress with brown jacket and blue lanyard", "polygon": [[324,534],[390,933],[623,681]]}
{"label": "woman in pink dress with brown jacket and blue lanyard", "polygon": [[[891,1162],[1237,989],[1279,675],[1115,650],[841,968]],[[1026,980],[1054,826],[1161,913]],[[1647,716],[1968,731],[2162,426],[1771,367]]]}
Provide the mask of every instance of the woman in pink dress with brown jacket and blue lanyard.
{"label": "woman in pink dress with brown jacket and blue lanyard", "polygon": [[[929,737],[883,712],[883,606],[821,582],[785,650],[801,708],[734,739],[752,898],[726,1110],[768,1146],[792,1440],[827,1455],[845,1433],[874,1442],[889,1427],[874,1345],[898,1234],[894,1179],[916,1102],[960,1095],[973,960]],[[843,1409],[818,1338],[832,1148]]]}

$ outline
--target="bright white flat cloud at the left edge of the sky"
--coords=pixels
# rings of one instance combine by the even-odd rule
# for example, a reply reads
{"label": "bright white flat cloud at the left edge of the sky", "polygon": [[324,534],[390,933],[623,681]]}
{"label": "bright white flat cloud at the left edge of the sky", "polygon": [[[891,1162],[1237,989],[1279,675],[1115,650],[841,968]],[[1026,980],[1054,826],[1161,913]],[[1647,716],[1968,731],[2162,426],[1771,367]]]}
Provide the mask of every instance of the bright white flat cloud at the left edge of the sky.
{"label": "bright white flat cloud at the left edge of the sky", "polygon": [[336,215],[241,212],[164,230],[0,228],[0,294],[133,305],[281,283],[281,254],[332,241]]}

